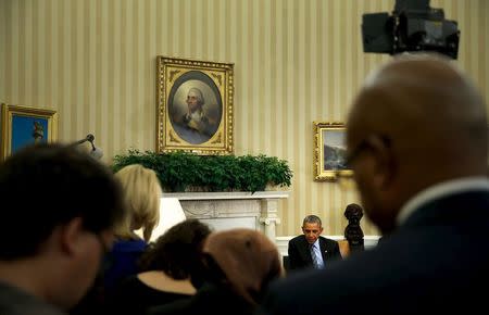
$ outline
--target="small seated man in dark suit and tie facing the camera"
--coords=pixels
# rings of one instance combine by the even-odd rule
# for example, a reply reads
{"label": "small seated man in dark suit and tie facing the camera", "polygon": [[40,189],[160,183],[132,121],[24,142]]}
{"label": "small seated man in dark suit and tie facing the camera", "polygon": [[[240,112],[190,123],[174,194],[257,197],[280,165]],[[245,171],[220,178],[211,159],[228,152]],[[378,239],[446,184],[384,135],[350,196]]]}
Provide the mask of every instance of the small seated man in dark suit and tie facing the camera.
{"label": "small seated man in dark suit and tie facing the camera", "polygon": [[316,215],[308,215],[302,223],[303,235],[289,241],[289,269],[325,268],[333,259],[341,259],[338,242],[322,237],[323,225]]}

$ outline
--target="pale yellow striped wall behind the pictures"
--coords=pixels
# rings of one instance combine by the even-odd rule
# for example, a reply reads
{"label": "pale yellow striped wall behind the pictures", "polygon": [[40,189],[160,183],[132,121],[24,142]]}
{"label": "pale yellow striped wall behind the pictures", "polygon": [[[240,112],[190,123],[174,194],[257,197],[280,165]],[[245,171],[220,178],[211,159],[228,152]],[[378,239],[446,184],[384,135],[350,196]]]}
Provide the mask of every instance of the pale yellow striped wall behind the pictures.
{"label": "pale yellow striped wall behind the pictures", "polygon": [[[341,235],[358,201],[313,181],[313,121],[342,122],[366,74],[388,55],[362,51],[365,12],[393,0],[0,0],[0,101],[59,112],[63,141],[96,135],[105,162],[155,148],[155,56],[235,63],[236,154],[293,169],[277,235],[323,217]],[[459,63],[489,94],[489,3],[439,0],[462,32]],[[365,234],[377,231],[364,220]]]}

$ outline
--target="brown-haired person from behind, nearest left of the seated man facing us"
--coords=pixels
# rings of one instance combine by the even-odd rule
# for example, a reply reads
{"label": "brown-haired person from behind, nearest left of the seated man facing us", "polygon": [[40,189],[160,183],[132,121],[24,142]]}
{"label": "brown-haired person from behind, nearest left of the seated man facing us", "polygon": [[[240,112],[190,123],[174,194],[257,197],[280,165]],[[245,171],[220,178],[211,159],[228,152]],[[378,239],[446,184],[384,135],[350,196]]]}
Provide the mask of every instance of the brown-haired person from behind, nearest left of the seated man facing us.
{"label": "brown-haired person from behind, nearest left of the seated man facing us", "polygon": [[[264,234],[234,228],[211,234],[203,247],[202,270],[191,275],[197,293],[148,315],[251,315],[269,281],[283,275],[278,249]],[[201,279],[197,279],[201,277]]]}

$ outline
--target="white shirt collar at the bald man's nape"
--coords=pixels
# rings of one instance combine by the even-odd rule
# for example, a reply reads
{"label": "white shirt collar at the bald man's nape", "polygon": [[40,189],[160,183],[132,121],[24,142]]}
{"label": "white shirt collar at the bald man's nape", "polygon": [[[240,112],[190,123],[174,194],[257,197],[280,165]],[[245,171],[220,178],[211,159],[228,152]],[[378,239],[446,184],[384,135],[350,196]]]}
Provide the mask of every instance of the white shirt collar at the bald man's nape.
{"label": "white shirt collar at the bald man's nape", "polygon": [[464,177],[460,179],[447,180],[416,193],[408,200],[398,214],[397,223],[402,225],[408,217],[423,204],[442,197],[454,194],[457,192],[466,192],[473,190],[489,191],[489,179],[485,176]]}

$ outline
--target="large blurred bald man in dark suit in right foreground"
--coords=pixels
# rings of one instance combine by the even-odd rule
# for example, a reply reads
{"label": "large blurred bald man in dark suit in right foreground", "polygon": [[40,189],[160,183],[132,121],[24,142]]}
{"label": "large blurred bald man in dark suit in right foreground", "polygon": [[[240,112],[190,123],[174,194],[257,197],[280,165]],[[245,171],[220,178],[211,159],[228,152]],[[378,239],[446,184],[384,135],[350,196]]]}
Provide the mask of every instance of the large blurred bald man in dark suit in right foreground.
{"label": "large blurred bald man in dark suit in right foreground", "polygon": [[[269,287],[265,314],[473,314],[487,308],[486,104],[452,61],[399,56],[369,76],[348,161],[377,247]],[[300,301],[300,302],[299,302]]]}

